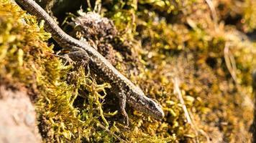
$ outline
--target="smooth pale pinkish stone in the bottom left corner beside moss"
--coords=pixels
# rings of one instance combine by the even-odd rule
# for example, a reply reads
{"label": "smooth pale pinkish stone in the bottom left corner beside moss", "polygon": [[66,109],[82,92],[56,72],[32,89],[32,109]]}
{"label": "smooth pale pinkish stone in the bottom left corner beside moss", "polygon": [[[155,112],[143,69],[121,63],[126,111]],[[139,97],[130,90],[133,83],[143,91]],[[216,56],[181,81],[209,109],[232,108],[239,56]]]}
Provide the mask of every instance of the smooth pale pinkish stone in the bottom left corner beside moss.
{"label": "smooth pale pinkish stone in the bottom left corner beside moss", "polygon": [[0,143],[42,142],[26,92],[0,85]]}

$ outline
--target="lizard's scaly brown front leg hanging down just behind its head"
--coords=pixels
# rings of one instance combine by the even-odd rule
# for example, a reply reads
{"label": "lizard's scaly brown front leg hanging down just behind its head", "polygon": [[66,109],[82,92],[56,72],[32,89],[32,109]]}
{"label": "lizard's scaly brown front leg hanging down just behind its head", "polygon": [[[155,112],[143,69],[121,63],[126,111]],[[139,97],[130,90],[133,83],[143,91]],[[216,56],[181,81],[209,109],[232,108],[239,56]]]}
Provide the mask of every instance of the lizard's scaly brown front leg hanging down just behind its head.
{"label": "lizard's scaly brown front leg hanging down just behind its head", "polygon": [[124,92],[119,92],[119,105],[120,105],[120,110],[122,115],[124,116],[124,122],[125,122],[125,127],[129,127],[129,117],[127,112],[125,111],[126,107],[126,102],[127,102],[127,96],[124,94]]}

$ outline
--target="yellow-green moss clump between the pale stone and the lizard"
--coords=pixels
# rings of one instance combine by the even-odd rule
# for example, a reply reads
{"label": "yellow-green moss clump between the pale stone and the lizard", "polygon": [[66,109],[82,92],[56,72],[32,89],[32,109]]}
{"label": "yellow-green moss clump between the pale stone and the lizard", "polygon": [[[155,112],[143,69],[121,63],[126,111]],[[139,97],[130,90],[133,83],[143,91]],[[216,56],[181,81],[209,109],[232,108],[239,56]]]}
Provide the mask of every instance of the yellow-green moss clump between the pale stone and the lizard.
{"label": "yellow-green moss clump between the pale stone and the lizard", "polygon": [[[37,114],[45,141],[112,139],[96,126],[104,119],[99,101],[109,84],[96,84],[82,67],[63,65],[53,46],[44,42],[50,34],[43,25],[37,26],[35,16],[9,1],[1,1],[0,6],[1,80],[20,82],[37,94]],[[78,94],[78,90],[88,93]],[[81,107],[75,107],[78,96],[83,97]]]}

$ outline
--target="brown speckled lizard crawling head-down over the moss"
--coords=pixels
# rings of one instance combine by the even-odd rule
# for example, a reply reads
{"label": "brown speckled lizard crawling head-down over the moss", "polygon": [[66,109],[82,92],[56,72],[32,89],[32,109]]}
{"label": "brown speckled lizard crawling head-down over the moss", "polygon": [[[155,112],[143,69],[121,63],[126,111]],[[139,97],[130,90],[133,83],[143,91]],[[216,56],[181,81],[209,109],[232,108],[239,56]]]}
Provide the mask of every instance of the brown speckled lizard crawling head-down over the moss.
{"label": "brown speckled lizard crawling head-down over the moss", "polygon": [[[45,30],[52,34],[52,38],[62,47],[73,50],[75,59],[86,59],[90,69],[96,75],[109,82],[111,87],[116,87],[116,97],[119,99],[119,106],[126,126],[129,126],[129,117],[125,110],[128,103],[132,108],[143,112],[155,119],[163,119],[165,116],[160,104],[153,99],[146,97],[140,87],[133,84],[127,77],[121,74],[104,56],[93,49],[86,41],[80,41],[66,34],[58,24],[33,0],[15,0],[29,14],[37,16],[37,19],[45,21]],[[80,49],[80,50],[78,50]],[[71,58],[72,59],[72,58]]]}

